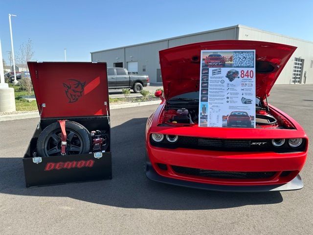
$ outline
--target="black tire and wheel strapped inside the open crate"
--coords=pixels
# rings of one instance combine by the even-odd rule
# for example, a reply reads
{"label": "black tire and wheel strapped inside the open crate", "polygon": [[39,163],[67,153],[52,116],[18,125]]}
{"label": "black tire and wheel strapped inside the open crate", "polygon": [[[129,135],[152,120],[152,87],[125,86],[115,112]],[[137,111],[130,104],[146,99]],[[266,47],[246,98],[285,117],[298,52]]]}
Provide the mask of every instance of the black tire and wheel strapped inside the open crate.
{"label": "black tire and wheel strapped inside the open crate", "polygon": [[[91,135],[81,124],[74,121],[66,121],[67,147],[66,154],[89,153],[91,148]],[[37,141],[37,155],[40,157],[61,155],[61,127],[54,122],[48,125],[40,134]]]}

